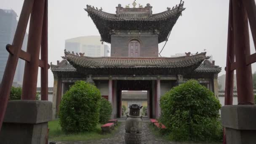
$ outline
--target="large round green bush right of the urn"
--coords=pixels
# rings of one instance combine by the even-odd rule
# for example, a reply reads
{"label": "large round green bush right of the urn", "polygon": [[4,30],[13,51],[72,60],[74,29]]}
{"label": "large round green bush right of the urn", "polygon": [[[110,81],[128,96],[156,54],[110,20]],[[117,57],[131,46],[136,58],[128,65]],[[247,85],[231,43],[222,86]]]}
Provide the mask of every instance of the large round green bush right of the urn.
{"label": "large round green bush right of the urn", "polygon": [[175,141],[220,141],[221,104],[214,93],[196,80],[189,80],[165,93],[160,99],[161,116]]}

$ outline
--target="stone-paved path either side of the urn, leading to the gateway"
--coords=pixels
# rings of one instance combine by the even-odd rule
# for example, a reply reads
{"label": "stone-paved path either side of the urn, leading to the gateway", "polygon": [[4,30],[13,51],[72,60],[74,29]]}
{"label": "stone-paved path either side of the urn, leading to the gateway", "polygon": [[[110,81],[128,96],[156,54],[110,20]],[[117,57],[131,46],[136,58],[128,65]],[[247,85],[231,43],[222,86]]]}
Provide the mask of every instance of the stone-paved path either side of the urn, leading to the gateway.
{"label": "stone-paved path either side of the urn, leading to the gateway", "polygon": [[[56,144],[125,144],[124,133],[125,123],[121,123],[119,129],[112,138],[86,142],[58,142]],[[142,124],[142,141],[142,144],[176,144],[154,136],[149,129],[149,123],[146,122]]]}

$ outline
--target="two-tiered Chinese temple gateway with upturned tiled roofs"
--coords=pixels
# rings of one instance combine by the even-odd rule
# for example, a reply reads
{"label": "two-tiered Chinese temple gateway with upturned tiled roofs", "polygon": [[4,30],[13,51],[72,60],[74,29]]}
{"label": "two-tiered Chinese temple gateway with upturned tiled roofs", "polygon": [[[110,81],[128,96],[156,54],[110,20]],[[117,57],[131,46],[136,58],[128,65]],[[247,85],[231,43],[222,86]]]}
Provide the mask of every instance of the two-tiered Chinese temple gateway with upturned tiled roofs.
{"label": "two-tiered Chinese temple gateway with upturned tiled roofs", "polygon": [[[112,104],[112,117],[121,117],[122,91],[147,91],[147,116],[159,117],[160,97],[189,79],[198,80],[218,97],[219,66],[206,53],[181,57],[158,57],[158,43],[167,40],[174,24],[185,10],[184,2],[162,13],[152,6],[133,8],[120,4],[116,13],[87,5],[101,40],[111,43],[110,57],[87,57],[83,52],[64,52],[63,60],[51,64],[54,75],[53,115],[59,111],[61,96],[77,80],[93,83]],[[75,54],[76,53],[76,54]],[[78,54],[80,53],[80,54]]]}

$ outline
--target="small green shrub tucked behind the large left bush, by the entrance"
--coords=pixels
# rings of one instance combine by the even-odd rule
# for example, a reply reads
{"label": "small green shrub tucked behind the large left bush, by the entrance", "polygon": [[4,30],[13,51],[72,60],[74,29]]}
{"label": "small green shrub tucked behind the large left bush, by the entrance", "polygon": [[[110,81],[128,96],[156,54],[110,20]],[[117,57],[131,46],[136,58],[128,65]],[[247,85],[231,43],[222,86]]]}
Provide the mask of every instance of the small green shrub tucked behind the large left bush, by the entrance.
{"label": "small green shrub tucked behind the large left bush, by the entrance", "polygon": [[99,108],[99,123],[107,123],[112,114],[112,105],[107,99],[101,97]]}

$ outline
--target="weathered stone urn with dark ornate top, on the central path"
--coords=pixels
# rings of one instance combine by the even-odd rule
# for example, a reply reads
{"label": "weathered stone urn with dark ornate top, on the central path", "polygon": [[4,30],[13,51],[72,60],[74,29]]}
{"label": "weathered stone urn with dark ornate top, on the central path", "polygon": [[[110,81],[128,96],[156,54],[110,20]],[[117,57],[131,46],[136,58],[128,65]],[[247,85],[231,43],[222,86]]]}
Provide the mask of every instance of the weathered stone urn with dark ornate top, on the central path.
{"label": "weathered stone urn with dark ornate top, on the central path", "polygon": [[132,104],[130,113],[125,119],[125,144],[141,144],[142,116],[139,115],[140,107],[138,104]]}

